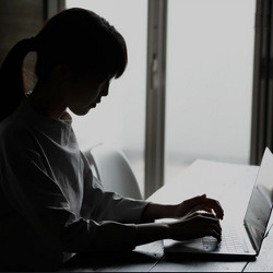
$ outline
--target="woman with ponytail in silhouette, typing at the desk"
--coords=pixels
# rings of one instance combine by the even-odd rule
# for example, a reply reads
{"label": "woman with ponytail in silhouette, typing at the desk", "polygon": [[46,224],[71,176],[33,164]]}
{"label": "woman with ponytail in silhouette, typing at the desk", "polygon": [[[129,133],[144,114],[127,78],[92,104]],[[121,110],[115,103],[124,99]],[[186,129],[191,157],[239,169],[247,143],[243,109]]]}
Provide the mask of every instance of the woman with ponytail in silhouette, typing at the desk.
{"label": "woman with ponytail in silhouette, typing at the desk", "polygon": [[[37,83],[23,61],[36,51]],[[19,41],[0,70],[0,264],[58,269],[73,252],[124,251],[151,241],[221,239],[223,209],[205,194],[162,205],[104,192],[78,146],[69,108],[86,115],[127,66],[123,37],[94,12],[60,12]],[[95,130],[95,129],[94,129]],[[204,211],[204,212],[198,212]],[[154,219],[174,217],[173,223]]]}

